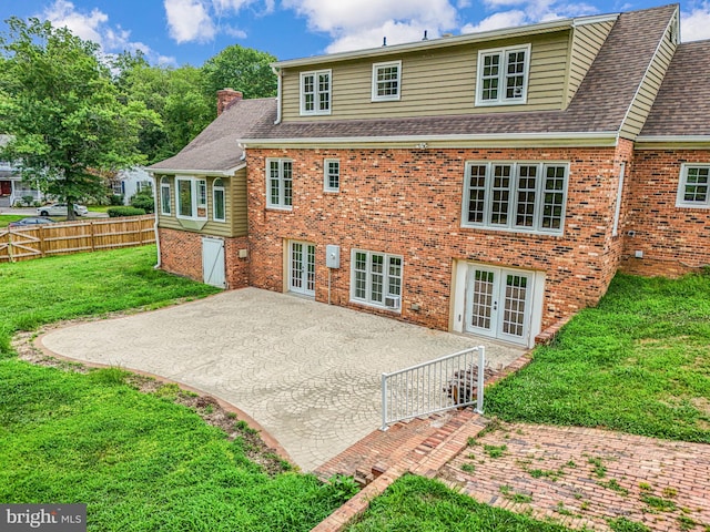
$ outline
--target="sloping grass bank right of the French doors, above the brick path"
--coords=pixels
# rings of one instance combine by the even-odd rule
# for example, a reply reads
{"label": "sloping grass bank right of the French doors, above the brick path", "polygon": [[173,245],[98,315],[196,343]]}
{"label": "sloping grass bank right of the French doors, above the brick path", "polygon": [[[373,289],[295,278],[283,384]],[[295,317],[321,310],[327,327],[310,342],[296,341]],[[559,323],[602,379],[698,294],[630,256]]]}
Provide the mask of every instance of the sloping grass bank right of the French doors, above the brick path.
{"label": "sloping grass bank right of the French doors, above the brick path", "polygon": [[532,362],[486,390],[506,421],[710,443],[710,275],[618,274]]}

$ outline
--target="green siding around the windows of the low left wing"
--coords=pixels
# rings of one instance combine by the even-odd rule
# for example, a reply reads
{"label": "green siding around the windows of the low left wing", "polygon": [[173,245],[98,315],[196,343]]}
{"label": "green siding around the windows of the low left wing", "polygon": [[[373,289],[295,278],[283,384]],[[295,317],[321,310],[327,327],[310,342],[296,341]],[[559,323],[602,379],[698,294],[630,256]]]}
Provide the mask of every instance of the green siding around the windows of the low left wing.
{"label": "green siding around the windows of the low left wing", "polygon": [[[158,176],[158,183],[160,183],[161,177],[162,176]],[[170,178],[171,208],[173,214],[171,216],[166,216],[159,213],[158,225],[170,229],[191,231],[183,226],[180,223],[180,218],[175,215],[175,176],[169,175],[168,177]],[[203,177],[207,181],[207,222],[197,233],[225,237],[245,236],[247,232],[246,168],[237,171],[232,177],[221,177],[222,183],[224,184],[224,209],[226,222],[215,222],[213,219],[212,185],[219,177],[204,177],[201,175],[195,175],[195,177]],[[160,188],[158,190],[160,191]]]}

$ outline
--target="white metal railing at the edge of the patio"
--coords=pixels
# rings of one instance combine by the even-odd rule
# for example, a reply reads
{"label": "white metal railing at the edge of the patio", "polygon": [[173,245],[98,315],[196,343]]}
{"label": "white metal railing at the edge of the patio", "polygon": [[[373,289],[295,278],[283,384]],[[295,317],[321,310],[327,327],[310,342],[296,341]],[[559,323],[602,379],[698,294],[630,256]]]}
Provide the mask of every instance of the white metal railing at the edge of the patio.
{"label": "white metal railing at the edge of the patio", "polygon": [[382,427],[406,419],[476,405],[484,410],[484,346],[382,374]]}

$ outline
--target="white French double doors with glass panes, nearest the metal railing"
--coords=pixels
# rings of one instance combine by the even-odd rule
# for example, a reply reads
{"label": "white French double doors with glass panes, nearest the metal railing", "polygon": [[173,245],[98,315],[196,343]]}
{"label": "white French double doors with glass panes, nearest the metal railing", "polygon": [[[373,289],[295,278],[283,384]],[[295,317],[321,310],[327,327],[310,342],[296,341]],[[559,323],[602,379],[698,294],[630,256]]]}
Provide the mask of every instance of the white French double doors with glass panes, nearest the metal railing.
{"label": "white French double doors with glass panes, nearest the metal railing", "polygon": [[470,266],[466,276],[465,330],[527,344],[534,279],[530,272]]}

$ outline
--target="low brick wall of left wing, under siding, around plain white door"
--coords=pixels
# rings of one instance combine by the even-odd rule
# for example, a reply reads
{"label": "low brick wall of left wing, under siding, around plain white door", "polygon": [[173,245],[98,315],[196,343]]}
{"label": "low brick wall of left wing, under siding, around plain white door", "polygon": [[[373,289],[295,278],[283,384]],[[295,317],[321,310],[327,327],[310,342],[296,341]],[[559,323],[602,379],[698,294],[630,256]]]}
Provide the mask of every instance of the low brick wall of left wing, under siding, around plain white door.
{"label": "low brick wall of left wing, under siding, around plain white door", "polygon": [[[202,236],[186,231],[158,229],[162,269],[202,282]],[[248,249],[246,237],[224,238],[227,288],[248,286],[248,258],[240,258],[240,249]]]}

